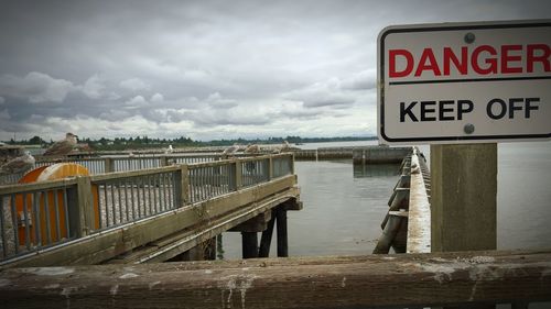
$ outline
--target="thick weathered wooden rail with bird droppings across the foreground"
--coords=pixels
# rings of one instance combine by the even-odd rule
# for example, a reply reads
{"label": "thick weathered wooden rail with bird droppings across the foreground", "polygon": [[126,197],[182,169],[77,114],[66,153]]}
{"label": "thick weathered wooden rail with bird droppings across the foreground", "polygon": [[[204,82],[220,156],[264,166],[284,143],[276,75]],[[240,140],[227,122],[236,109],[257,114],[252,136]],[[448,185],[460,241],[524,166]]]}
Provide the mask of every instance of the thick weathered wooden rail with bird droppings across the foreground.
{"label": "thick weathered wooden rail with bird droppings across the foreground", "polygon": [[0,272],[4,308],[364,308],[551,300],[551,251]]}

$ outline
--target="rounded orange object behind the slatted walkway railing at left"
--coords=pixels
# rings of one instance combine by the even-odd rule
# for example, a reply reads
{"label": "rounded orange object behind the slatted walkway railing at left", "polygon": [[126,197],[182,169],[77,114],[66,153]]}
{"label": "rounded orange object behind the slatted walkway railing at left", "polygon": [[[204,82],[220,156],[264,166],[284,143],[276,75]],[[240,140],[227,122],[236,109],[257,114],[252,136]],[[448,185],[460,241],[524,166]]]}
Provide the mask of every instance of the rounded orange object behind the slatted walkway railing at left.
{"label": "rounded orange object behind the slatted walkway railing at left", "polygon": [[[40,183],[46,180],[64,179],[73,176],[87,176],[89,175],[88,169],[82,165],[74,163],[57,163],[51,166],[37,167],[29,173],[26,173],[20,180],[20,184],[31,184]],[[93,201],[94,201],[94,213],[95,213],[95,229],[99,228],[99,207],[98,207],[98,190],[97,186],[93,186]],[[15,195],[15,207],[19,217],[18,233],[19,233],[19,244],[25,245],[25,231],[28,229],[26,223],[29,223],[29,242],[33,245],[37,245],[36,231],[33,227],[36,220],[40,220],[40,239],[41,245],[46,245],[48,243],[55,243],[63,239],[69,238],[67,234],[67,220],[65,216],[65,201],[64,201],[64,190],[54,189],[47,191],[39,191],[35,194],[20,194]],[[46,214],[46,201],[47,201],[47,214]],[[33,208],[35,205],[35,209]],[[26,208],[26,220],[24,216],[23,205]],[[57,209],[57,216],[56,216]],[[71,210],[68,210],[71,213]],[[40,218],[39,218],[40,217]],[[60,233],[57,234],[56,220],[60,222]],[[78,220],[78,218],[74,218]],[[47,224],[50,225],[50,239],[47,238]],[[73,224],[69,224],[73,225]],[[48,242],[50,240],[50,242]]]}

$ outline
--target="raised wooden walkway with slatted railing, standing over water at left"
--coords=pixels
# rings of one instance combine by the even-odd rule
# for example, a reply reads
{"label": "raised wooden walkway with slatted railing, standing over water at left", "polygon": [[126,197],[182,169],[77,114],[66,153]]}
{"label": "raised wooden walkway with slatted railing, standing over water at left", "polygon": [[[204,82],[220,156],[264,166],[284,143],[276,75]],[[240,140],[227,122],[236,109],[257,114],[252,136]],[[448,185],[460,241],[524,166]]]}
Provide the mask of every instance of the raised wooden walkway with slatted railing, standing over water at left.
{"label": "raised wooden walkway with slatted railing, standing over water at left", "polygon": [[0,266],[162,262],[299,195],[291,154],[3,186]]}

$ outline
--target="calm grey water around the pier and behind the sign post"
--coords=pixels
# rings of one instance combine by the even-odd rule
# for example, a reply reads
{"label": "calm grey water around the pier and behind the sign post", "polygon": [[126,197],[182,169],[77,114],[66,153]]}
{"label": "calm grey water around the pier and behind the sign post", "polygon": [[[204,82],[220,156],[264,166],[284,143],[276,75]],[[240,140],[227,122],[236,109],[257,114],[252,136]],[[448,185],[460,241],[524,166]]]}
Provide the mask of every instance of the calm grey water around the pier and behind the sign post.
{"label": "calm grey water around the pier and behind the sign post", "polygon": [[[376,143],[312,143],[301,147]],[[430,157],[428,146],[421,150]],[[388,168],[383,168],[370,169],[376,176],[366,177],[363,170],[355,173],[352,161],[296,162],[295,169],[304,209],[289,212],[290,255],[370,254],[398,176],[388,175]],[[499,144],[498,249],[551,247],[550,172],[551,142]],[[240,247],[239,233],[224,234],[225,258],[240,258]]]}

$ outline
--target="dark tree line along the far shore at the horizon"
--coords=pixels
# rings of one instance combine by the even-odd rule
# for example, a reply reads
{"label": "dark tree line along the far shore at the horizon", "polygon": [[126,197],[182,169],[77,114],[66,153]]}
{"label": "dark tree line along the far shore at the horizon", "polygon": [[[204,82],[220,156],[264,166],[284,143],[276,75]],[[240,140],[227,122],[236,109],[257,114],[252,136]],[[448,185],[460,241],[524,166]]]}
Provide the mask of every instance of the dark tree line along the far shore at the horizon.
{"label": "dark tree line along the far shore at the horizon", "polygon": [[[291,144],[302,143],[325,143],[325,142],[348,142],[348,141],[370,141],[377,140],[377,136],[344,136],[344,137],[301,137],[301,136],[287,136],[287,137],[268,137],[268,139],[231,139],[231,140],[213,140],[208,142],[194,141],[190,137],[180,136],[176,139],[153,139],[144,136],[136,137],[101,137],[94,140],[90,137],[78,139],[82,144],[87,144],[93,150],[139,150],[139,148],[160,148],[172,145],[173,147],[199,147],[199,146],[228,146],[233,144],[281,144],[288,141]],[[54,141],[46,142],[40,136],[33,136],[30,140],[14,141],[13,139],[7,142],[12,145],[42,145],[44,147],[53,144]]]}

